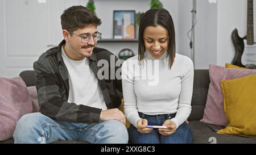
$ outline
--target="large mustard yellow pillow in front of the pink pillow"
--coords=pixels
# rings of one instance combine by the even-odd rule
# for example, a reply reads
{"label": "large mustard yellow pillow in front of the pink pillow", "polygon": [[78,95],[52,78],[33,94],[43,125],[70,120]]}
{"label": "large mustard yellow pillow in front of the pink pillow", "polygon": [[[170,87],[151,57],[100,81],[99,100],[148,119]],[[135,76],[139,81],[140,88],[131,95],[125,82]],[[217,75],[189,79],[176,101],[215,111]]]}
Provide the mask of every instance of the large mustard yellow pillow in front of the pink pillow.
{"label": "large mustard yellow pillow in front of the pink pillow", "polygon": [[256,74],[221,82],[229,124],[217,133],[256,136]]}

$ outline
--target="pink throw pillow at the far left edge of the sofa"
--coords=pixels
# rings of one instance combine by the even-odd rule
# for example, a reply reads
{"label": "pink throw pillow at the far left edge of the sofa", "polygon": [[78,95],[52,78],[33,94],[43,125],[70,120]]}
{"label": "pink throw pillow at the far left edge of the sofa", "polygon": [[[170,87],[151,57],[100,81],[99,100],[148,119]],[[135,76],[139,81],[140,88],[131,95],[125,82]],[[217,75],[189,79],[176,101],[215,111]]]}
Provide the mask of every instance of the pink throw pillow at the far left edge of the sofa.
{"label": "pink throw pillow at the far left edge of the sofa", "polygon": [[27,86],[20,77],[0,78],[0,141],[11,139],[16,122],[32,112]]}

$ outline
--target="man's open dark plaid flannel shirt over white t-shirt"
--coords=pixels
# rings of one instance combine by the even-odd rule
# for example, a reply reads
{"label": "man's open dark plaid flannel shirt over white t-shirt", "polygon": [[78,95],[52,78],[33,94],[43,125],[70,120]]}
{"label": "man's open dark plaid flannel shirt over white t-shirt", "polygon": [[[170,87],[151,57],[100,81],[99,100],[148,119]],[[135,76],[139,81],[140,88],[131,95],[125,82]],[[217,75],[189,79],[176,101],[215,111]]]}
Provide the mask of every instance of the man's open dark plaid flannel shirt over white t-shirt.
{"label": "man's open dark plaid flannel shirt over white t-shirt", "polygon": [[[67,102],[69,95],[68,69],[61,57],[61,47],[64,44],[65,40],[58,47],[43,53],[39,60],[34,62],[40,112],[49,118],[64,122],[88,124],[100,122],[101,109]],[[121,104],[122,81],[116,77],[114,79],[99,79],[97,73],[101,68],[97,66],[97,62],[103,59],[110,64],[111,55],[113,53],[106,49],[94,47],[93,54],[89,59],[90,69],[98,79],[108,109],[117,108]],[[118,61],[116,56],[114,59],[115,62]],[[109,72],[110,70],[117,72],[121,65],[115,66],[112,62],[107,67]]]}

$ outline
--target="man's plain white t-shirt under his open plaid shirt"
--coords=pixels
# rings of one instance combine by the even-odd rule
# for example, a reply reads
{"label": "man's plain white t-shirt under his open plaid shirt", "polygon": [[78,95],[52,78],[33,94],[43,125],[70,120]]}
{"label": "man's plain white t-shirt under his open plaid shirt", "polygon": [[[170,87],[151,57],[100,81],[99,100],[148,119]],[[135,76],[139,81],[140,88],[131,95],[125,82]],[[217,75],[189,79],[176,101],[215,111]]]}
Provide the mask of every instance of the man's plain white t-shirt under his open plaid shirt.
{"label": "man's plain white t-shirt under his open plaid shirt", "polygon": [[62,47],[61,56],[68,68],[69,103],[106,110],[106,103],[98,80],[89,66],[89,58],[74,61],[67,57]]}

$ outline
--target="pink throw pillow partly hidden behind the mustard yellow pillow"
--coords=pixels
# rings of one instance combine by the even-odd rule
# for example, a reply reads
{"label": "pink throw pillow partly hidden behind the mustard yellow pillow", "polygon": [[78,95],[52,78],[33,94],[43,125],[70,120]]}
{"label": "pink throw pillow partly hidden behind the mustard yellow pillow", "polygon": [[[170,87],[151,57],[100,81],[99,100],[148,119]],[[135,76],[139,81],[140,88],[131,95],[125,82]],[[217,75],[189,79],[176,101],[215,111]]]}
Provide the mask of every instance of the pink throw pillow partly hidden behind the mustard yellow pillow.
{"label": "pink throw pillow partly hidden behind the mustard yellow pillow", "polygon": [[226,79],[234,79],[256,74],[256,69],[231,69],[216,65],[209,65],[210,85],[205,104],[203,123],[221,125],[229,124],[224,112],[224,98],[220,82]]}

